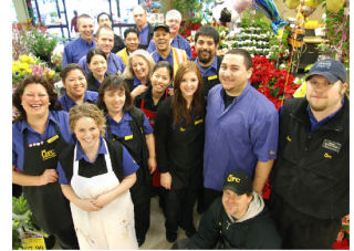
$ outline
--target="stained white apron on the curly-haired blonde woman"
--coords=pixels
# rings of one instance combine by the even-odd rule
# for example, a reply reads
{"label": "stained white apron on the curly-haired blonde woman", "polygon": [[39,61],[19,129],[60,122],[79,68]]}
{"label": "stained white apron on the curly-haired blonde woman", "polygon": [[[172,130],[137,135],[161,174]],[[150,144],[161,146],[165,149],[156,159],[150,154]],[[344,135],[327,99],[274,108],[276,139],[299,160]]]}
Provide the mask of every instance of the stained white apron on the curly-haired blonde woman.
{"label": "stained white apron on the curly-haired blonde woman", "polygon": [[[74,169],[71,186],[77,197],[95,199],[119,185],[112,169],[111,157],[105,161],[107,172],[92,178],[79,176],[76,147],[74,149]],[[84,211],[70,203],[80,249],[138,249],[134,229],[134,206],[129,190],[119,195],[98,211]]]}

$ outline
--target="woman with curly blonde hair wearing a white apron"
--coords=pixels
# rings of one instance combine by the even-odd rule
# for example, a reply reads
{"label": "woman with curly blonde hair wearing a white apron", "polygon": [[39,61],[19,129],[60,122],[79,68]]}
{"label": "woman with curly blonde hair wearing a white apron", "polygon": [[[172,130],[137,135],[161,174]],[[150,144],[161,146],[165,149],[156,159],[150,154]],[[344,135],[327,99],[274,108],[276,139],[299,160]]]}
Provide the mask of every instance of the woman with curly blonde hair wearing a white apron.
{"label": "woman with curly blonde hair wearing a white apron", "polygon": [[119,143],[105,135],[105,116],[94,104],[69,112],[77,143],[58,164],[59,182],[71,201],[80,249],[137,249],[129,188],[138,166]]}

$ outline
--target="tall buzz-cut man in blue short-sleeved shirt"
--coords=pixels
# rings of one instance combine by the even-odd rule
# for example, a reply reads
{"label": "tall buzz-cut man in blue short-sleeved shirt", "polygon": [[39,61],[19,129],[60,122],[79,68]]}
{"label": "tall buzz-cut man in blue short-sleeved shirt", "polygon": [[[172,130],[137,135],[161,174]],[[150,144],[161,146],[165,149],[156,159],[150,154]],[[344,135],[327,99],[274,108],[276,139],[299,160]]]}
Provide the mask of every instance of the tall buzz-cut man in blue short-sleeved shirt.
{"label": "tall buzz-cut man in blue short-sleeved shirt", "polygon": [[205,207],[221,196],[232,170],[244,171],[253,190],[262,188],[277,157],[278,113],[274,105],[249,83],[252,59],[233,49],[222,59],[221,84],[209,91],[204,151]]}

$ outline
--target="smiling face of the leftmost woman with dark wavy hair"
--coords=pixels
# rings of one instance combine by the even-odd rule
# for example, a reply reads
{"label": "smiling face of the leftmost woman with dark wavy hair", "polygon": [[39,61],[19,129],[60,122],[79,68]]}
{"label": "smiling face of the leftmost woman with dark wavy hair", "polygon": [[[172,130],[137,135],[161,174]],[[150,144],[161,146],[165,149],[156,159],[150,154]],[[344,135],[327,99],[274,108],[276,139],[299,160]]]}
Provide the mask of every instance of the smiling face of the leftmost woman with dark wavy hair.
{"label": "smiling face of the leftmost woman with dark wavy hair", "polygon": [[28,84],[21,96],[21,105],[28,116],[46,116],[49,114],[49,95],[41,84]]}

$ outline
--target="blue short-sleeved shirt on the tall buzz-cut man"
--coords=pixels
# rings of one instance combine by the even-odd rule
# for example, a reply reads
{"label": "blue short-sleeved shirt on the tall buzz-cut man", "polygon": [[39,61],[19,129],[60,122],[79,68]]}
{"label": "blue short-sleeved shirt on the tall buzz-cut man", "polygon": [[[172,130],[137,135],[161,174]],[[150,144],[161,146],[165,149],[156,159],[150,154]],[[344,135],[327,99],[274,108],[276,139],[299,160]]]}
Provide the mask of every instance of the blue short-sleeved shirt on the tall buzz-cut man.
{"label": "blue short-sleeved shirt on the tall buzz-cut man", "polygon": [[248,83],[225,109],[221,84],[208,94],[204,186],[221,190],[232,170],[253,178],[257,161],[275,159],[279,118],[274,105]]}

